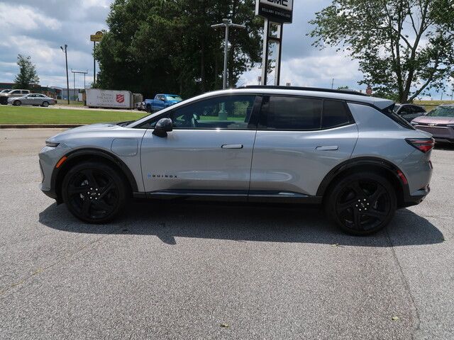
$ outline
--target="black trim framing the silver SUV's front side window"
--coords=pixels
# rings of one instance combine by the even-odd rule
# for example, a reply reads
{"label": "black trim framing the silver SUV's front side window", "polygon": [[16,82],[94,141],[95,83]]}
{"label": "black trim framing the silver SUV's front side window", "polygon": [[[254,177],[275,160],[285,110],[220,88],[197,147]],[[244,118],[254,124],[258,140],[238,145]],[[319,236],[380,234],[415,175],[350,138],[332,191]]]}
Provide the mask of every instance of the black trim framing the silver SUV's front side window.
{"label": "black trim framing the silver SUV's front side window", "polygon": [[[196,101],[191,101],[187,104],[184,104],[182,106],[178,106],[178,108],[171,109],[169,111],[165,111],[164,113],[155,115],[155,117],[150,118],[149,120],[146,120],[140,125],[136,125],[133,127],[133,129],[144,129],[144,130],[154,130],[154,128],[144,128],[143,125],[147,125],[150,123],[150,121],[155,121],[155,120],[160,120],[161,118],[169,118],[172,113],[174,113],[176,110],[179,110],[180,108],[185,108],[189,105],[199,103],[201,101],[207,101],[211,100],[214,98],[221,98],[221,97],[231,97],[231,96],[255,96],[255,100],[253,103],[253,111],[250,113],[249,117],[249,122],[246,128],[244,129],[226,129],[226,128],[173,128],[173,130],[233,130],[233,131],[247,131],[247,130],[257,130],[257,123],[258,123],[258,117],[260,114],[260,108],[262,106],[262,94],[250,92],[247,94],[217,94],[216,96],[209,96],[206,98],[200,98]],[[260,98],[260,99],[259,99]]]}

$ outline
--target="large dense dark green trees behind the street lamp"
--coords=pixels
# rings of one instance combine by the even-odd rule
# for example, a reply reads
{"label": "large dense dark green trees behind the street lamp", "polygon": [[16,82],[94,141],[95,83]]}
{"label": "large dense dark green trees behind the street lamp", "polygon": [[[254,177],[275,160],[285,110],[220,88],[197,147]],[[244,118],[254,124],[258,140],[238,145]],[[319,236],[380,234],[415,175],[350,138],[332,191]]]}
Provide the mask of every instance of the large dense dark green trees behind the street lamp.
{"label": "large dense dark green trees behind the street lamp", "polygon": [[109,30],[96,47],[96,86],[153,96],[193,96],[222,86],[223,32],[210,26],[223,18],[247,30],[231,30],[228,84],[260,61],[260,18],[253,0],[116,0]]}

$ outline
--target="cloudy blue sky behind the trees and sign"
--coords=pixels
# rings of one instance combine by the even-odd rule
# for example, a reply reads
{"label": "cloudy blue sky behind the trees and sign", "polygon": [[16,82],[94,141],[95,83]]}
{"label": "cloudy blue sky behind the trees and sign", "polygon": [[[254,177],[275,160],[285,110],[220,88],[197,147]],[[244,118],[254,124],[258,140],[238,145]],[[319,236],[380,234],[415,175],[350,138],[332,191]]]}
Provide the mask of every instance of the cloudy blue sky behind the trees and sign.
{"label": "cloudy blue sky behind the trees and sign", "polygon": [[[87,86],[93,81],[93,42],[89,35],[107,29],[106,17],[113,0],[0,0],[0,82],[13,82],[18,73],[17,55],[30,55],[40,84],[65,87],[65,54],[68,68],[88,72]],[[316,11],[331,0],[294,0],[293,23],[284,26],[281,84],[336,89],[359,86],[362,79],[358,62],[333,49],[319,50],[306,36],[308,23]],[[211,23],[209,23],[211,24]],[[96,67],[98,67],[96,65]],[[243,74],[238,85],[258,84],[260,65]],[[334,79],[334,80],[333,80]],[[72,87],[70,73],[70,87]],[[76,75],[76,87],[84,87],[83,75]],[[436,94],[434,98],[436,97]]]}

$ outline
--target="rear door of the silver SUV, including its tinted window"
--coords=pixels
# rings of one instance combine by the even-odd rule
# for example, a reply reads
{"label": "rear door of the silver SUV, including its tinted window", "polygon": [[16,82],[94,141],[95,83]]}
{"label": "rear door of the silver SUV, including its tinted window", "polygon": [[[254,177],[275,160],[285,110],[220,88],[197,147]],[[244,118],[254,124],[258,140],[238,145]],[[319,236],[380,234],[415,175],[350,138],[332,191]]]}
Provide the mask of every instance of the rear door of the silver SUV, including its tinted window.
{"label": "rear door of the silver SUV, including its tinted window", "polygon": [[316,196],[328,171],[349,159],[358,128],[344,101],[263,98],[249,198]]}

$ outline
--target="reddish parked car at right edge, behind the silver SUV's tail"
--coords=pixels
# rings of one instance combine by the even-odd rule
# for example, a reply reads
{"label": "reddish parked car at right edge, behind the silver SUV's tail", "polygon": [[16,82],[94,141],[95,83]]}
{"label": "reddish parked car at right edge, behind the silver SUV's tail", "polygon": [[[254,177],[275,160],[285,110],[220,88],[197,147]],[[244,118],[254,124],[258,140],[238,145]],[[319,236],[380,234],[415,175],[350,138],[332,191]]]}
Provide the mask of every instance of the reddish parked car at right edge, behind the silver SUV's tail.
{"label": "reddish parked car at right edge, behind the silver SUV's tail", "polygon": [[411,121],[414,128],[430,132],[437,142],[454,143],[454,104],[442,104]]}

